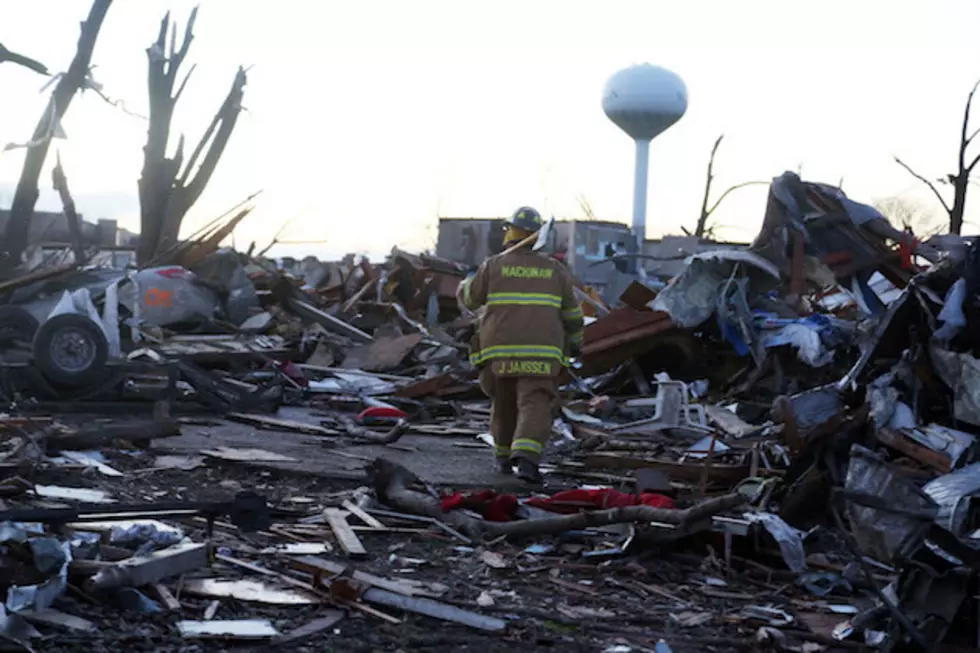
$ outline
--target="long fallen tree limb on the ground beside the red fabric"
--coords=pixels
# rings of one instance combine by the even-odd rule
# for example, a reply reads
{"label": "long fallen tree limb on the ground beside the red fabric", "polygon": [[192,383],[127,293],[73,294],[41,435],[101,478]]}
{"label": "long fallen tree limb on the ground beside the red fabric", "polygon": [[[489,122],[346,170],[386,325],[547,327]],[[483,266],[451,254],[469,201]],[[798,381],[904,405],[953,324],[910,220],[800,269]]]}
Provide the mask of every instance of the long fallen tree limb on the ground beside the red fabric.
{"label": "long fallen tree limb on the ground beside the red fabric", "polygon": [[746,502],[746,498],[742,495],[729,494],[708,499],[686,510],[629,506],[544,519],[487,522],[468,517],[458,511],[443,512],[442,503],[438,499],[409,488],[410,485],[421,483],[412,472],[384,458],[376,459],[368,467],[368,474],[381,501],[405,512],[438,519],[473,539],[555,535],[583,528],[608,526],[609,524],[650,522],[671,524],[683,532],[684,529],[692,525],[704,522],[718,513],[738,507]]}

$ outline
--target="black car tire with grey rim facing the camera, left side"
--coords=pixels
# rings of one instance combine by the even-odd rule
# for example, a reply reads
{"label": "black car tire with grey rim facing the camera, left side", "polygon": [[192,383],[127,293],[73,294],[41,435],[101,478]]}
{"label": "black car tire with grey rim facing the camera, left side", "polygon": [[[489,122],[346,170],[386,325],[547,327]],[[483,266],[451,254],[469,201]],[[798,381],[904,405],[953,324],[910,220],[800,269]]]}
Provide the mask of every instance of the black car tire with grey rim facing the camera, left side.
{"label": "black car tire with grey rim facing the camera, left side", "polygon": [[62,313],[42,324],[33,349],[34,364],[60,386],[98,383],[109,359],[109,341],[102,327],[78,313]]}

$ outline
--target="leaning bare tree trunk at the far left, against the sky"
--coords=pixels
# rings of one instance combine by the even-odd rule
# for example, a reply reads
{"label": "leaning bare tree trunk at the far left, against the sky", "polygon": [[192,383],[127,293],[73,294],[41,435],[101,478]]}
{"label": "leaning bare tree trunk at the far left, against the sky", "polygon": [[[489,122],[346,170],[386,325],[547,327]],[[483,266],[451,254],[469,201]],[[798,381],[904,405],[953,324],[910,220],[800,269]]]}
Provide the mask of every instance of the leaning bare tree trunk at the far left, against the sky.
{"label": "leaning bare tree trunk at the far left, against the sky", "polygon": [[68,72],[58,80],[44,115],[34,129],[34,136],[24,157],[24,168],[17,182],[17,190],[14,191],[14,200],[10,205],[10,218],[7,221],[6,237],[3,241],[3,258],[0,260],[0,272],[5,276],[9,276],[20,265],[24,250],[27,249],[31,218],[34,215],[34,205],[37,204],[38,179],[41,177],[44,160],[48,156],[51,138],[61,124],[61,119],[68,112],[75,94],[85,87],[95,41],[111,4],[112,0],[94,0],[92,3],[88,18],[82,23],[82,33],[78,37],[75,58],[72,59]]}

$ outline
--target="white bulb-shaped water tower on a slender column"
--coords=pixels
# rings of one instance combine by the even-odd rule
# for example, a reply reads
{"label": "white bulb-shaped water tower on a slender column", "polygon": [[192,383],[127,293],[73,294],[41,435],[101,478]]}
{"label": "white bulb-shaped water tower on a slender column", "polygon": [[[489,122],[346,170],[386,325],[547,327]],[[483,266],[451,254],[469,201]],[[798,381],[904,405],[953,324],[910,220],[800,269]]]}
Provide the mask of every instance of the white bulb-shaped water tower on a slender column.
{"label": "white bulb-shaped water tower on a slender column", "polygon": [[650,141],[681,119],[687,111],[687,87],[676,74],[651,64],[631,66],[609,78],[602,109],[636,141],[633,181],[633,235],[637,251],[646,239],[647,177]]}

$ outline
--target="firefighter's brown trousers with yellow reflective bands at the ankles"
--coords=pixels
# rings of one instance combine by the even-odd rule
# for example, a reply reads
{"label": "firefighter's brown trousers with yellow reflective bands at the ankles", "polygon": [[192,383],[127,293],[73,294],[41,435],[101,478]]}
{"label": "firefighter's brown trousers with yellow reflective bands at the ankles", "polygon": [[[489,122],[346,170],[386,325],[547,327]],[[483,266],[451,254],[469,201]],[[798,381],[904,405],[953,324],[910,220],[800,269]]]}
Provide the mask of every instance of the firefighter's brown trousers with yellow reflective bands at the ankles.
{"label": "firefighter's brown trousers with yellow reflective bands at the ankles", "polygon": [[497,376],[487,365],[480,388],[490,397],[490,434],[497,458],[527,458],[537,463],[551,437],[558,396],[552,377]]}

